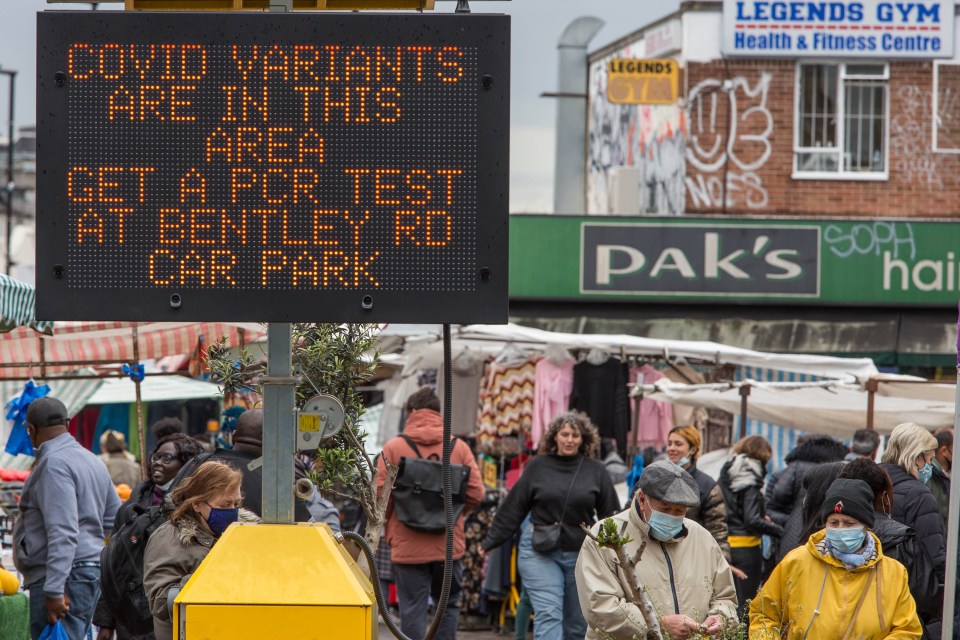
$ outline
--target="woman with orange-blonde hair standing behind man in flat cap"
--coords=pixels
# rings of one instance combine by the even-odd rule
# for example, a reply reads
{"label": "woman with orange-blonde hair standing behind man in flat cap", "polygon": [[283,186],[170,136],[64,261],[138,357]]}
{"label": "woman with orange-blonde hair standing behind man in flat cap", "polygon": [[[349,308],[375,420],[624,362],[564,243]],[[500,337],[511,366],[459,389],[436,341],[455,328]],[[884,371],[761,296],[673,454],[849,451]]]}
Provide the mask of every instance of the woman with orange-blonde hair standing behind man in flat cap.
{"label": "woman with orange-blonde hair standing behind man in flat cap", "polygon": [[693,520],[713,535],[723,557],[730,562],[730,545],[727,543],[727,509],[723,504],[720,484],[697,469],[700,457],[700,430],[694,426],[674,427],[667,435],[667,458],[681,467],[697,481],[700,504],[687,510],[686,517]]}

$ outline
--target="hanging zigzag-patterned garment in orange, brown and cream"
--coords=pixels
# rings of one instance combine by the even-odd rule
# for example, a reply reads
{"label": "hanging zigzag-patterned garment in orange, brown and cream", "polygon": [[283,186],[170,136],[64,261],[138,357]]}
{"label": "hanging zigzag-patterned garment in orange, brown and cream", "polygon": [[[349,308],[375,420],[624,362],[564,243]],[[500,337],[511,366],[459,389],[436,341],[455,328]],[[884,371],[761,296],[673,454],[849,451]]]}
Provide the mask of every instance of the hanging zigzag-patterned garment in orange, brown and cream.
{"label": "hanging zigzag-patterned garment in orange, brown and cream", "polygon": [[[480,389],[477,449],[483,453],[520,453],[533,422],[536,364],[490,362]],[[512,438],[512,441],[502,441]]]}

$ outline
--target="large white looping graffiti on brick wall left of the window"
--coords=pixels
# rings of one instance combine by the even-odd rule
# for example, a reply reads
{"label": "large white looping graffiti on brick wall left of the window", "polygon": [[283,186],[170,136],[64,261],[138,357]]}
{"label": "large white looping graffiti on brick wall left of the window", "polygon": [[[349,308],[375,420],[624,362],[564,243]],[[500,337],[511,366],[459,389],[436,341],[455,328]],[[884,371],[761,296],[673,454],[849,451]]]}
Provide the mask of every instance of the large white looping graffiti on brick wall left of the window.
{"label": "large white looping graffiti on brick wall left of the window", "polygon": [[[685,186],[693,208],[763,209],[769,202],[760,171],[770,159],[773,115],[767,108],[773,76],[754,81],[710,78],[690,90],[687,100]],[[728,135],[729,130],[729,135]],[[726,189],[724,189],[726,178]]]}

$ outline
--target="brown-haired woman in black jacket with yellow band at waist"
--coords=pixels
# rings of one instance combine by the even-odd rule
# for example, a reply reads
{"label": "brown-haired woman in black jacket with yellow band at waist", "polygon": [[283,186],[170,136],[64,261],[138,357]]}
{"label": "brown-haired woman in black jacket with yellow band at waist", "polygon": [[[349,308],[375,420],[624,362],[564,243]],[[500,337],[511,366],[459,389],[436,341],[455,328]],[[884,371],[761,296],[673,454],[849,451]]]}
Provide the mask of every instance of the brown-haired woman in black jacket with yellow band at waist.
{"label": "brown-haired woman in black jacket with yellow band at waist", "polygon": [[763,479],[767,462],[773,456],[770,443],[761,436],[747,436],[733,445],[733,457],[720,471],[720,489],[727,509],[731,564],[745,577],[736,578],[737,613],[742,616],[746,603],[760,587],[763,550],[760,537],[779,538],[783,527],[766,514],[763,503]]}

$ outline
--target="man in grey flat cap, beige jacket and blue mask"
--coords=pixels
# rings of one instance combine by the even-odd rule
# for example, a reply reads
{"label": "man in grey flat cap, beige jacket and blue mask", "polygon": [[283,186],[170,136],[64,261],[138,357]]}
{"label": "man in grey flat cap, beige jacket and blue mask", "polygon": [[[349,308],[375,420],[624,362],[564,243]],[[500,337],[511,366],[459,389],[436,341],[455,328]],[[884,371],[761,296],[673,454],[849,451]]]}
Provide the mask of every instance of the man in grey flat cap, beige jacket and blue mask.
{"label": "man in grey flat cap, beige jacket and blue mask", "polygon": [[[737,621],[737,592],[723,552],[709,531],[684,515],[700,502],[697,482],[681,467],[662,460],[640,476],[626,511],[613,516],[626,557],[641,589],[661,615],[664,637],[686,640],[697,633],[716,636]],[[593,526],[596,534],[602,523]],[[587,538],[576,569],[580,607],[587,619],[587,640],[645,638],[647,625],[632,589],[611,549]]]}

